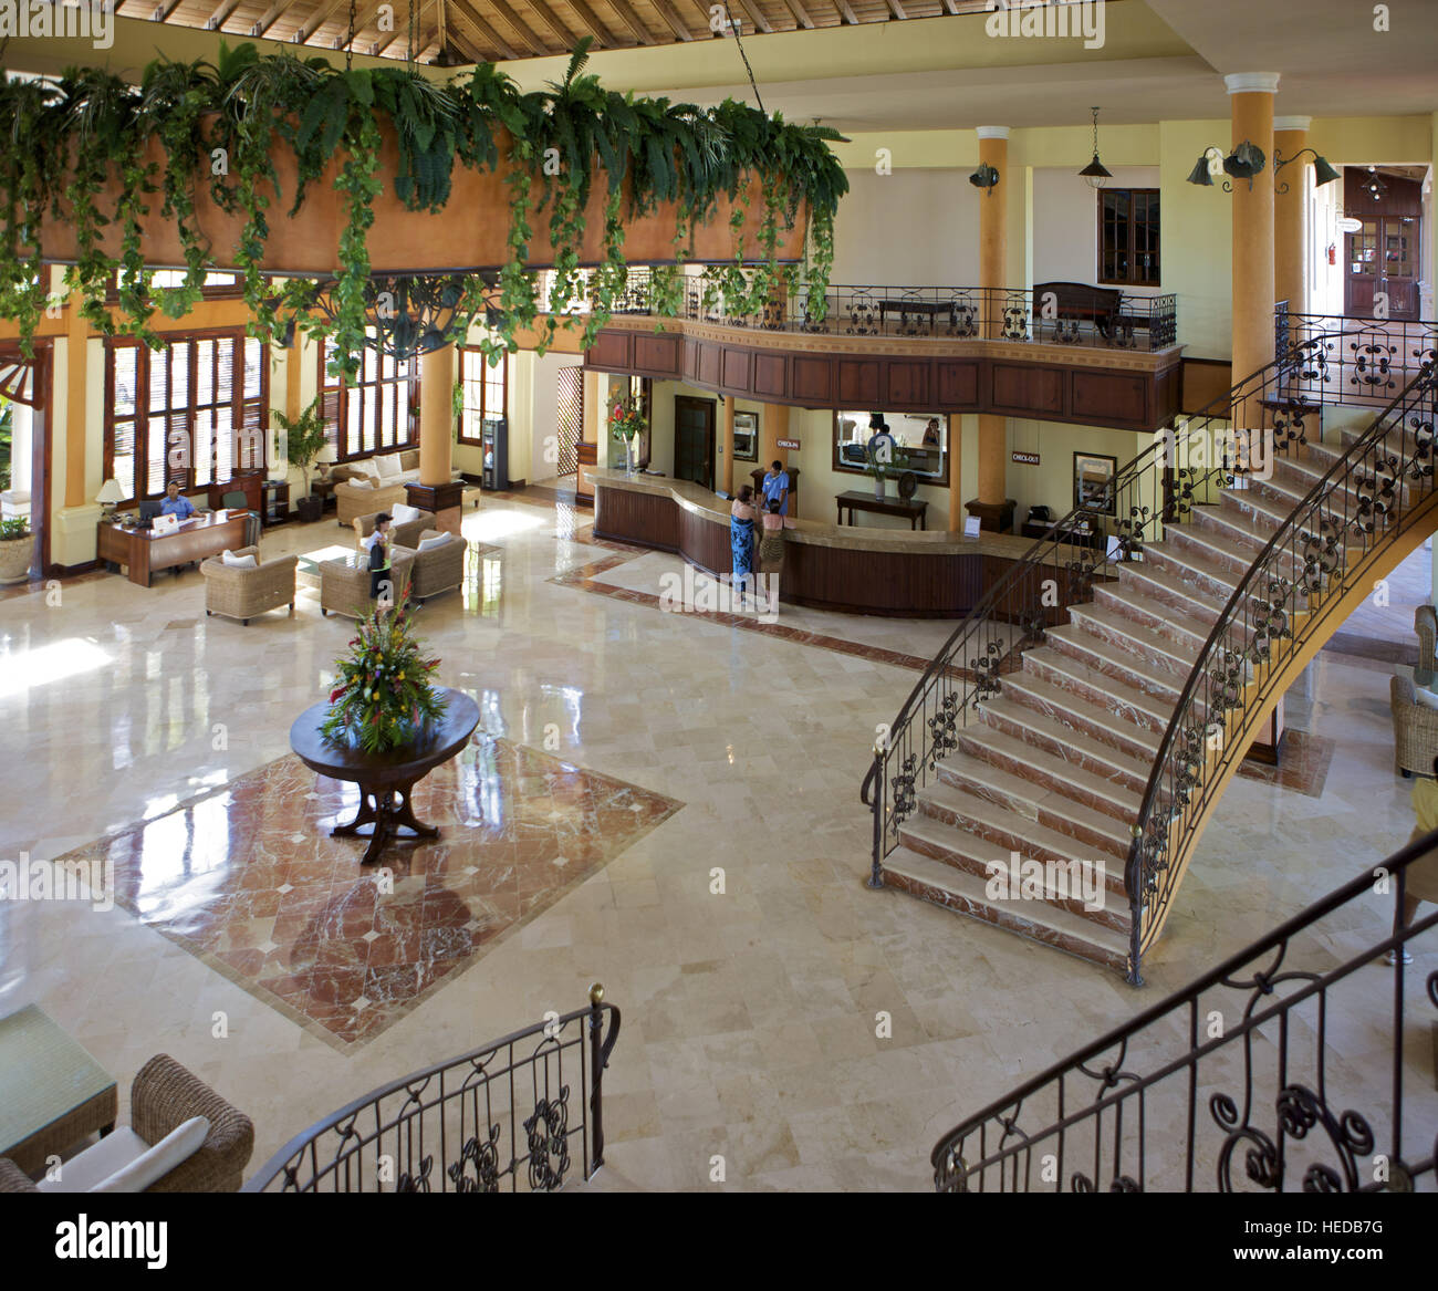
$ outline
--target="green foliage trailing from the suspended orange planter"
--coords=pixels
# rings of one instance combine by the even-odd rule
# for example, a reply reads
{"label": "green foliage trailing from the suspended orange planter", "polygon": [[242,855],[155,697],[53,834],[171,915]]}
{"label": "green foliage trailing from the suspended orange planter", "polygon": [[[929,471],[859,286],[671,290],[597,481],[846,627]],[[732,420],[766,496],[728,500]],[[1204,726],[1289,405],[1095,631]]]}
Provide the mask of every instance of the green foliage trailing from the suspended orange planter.
{"label": "green foliage trailing from the suspended orange planter", "polygon": [[[679,266],[692,256],[693,230],[716,217],[720,200],[735,204],[731,224],[738,234],[751,184],[762,193],[758,244],[746,247],[736,236],[733,262],[713,270],[707,288],[722,290],[731,309],[761,312],[798,282],[798,266],[778,262],[778,244],[805,214],[808,299],[818,321],[833,263],[834,211],[848,187],[828,148],[838,135],[732,99],[702,109],[617,93],[585,73],[588,49],[585,39],[562,81],[529,93],[489,63],[439,83],[411,68],[345,70],[322,58],[260,55],[253,45],[224,42],[213,65],[151,63],[138,88],[96,69],[66,72],[56,83],[0,79],[0,318],[19,322],[29,354],[46,303],[40,229],[63,220],[79,249],[68,286],[82,293],[86,318],[105,332],[118,328],[155,344],[148,328],[154,308],[170,316],[187,312],[216,263],[194,219],[194,194],[207,183],[223,210],[243,214],[239,242],[226,249],[223,263],[243,276],[252,331],[263,339],[296,323],[309,334],[326,332],[338,351],[335,371],[354,381],[365,339],[372,204],[385,188],[380,144],[388,127],[398,145],[388,181],[411,210],[444,210],[456,165],[509,168],[506,260],[469,276],[450,332],[457,339],[480,309],[493,311],[498,338],[485,342],[490,358],[518,349],[516,336],[539,316],[531,273],[536,227],[554,247],[545,262],[555,270],[539,351],[557,326],[575,325],[565,309],[581,289],[595,190],[604,193],[603,250],[590,285],[585,342],[624,290],[627,223],[674,203]],[[286,151],[295,160],[293,193],[280,191],[276,167]],[[272,210],[288,206],[289,216],[296,214],[334,158],[341,158],[335,187],[345,200],[338,272],[321,285],[289,279],[276,289],[265,273]],[[158,213],[151,211],[155,194]],[[142,263],[142,229],[154,214],[177,227],[186,270],[180,288],[158,293],[150,290]],[[116,267],[124,273],[112,321],[104,290]],[[654,277],[656,312],[676,313],[682,290],[679,269],[664,266]],[[334,322],[315,309],[319,292],[328,293]]]}

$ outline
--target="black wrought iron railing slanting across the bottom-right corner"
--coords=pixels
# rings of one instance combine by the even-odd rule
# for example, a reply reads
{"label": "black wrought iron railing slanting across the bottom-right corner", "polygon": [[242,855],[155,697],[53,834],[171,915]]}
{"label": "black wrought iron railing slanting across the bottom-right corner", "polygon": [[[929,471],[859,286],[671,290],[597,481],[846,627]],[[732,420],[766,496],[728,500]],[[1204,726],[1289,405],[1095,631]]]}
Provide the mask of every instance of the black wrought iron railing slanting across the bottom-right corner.
{"label": "black wrought iron railing slanting across the bottom-right corner", "polygon": [[[1438,1106],[1421,1055],[1438,972],[1412,991],[1402,960],[1438,950],[1438,913],[1401,914],[1435,848],[1431,834],[1383,861],[1386,896],[1365,870],[963,1120],[933,1149],[938,1190],[1432,1192]],[[1392,933],[1356,932],[1362,907]]]}

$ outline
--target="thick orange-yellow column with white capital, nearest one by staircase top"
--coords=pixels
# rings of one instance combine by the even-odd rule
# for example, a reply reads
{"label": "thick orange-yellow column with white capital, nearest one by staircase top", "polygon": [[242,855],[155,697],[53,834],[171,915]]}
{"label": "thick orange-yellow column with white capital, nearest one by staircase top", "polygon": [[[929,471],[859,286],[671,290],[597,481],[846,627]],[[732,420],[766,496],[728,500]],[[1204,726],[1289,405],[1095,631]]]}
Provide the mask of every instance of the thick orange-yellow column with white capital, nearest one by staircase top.
{"label": "thick orange-yellow column with white capital, nearest one by staircase top", "polygon": [[[1234,382],[1273,361],[1273,98],[1277,72],[1237,72],[1225,76],[1232,144],[1247,139],[1263,150],[1265,164],[1254,177],[1234,180],[1232,331]],[[1257,428],[1258,410],[1234,410],[1245,428]]]}

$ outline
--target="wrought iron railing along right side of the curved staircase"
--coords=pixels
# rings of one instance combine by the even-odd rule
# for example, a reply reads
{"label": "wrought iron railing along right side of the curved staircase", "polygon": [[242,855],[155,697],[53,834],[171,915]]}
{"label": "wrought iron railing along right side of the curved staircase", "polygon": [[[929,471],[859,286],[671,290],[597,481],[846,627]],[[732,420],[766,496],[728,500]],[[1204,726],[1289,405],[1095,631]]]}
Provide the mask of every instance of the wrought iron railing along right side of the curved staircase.
{"label": "wrought iron railing along right side of the curved staircase", "polygon": [[[1343,344],[1320,336],[1309,346]],[[1429,358],[1297,503],[1234,588],[1198,653],[1163,732],[1135,824],[1125,884],[1129,972],[1163,927],[1205,818],[1290,663],[1350,589],[1370,589],[1385,539],[1431,520],[1438,368]]]}

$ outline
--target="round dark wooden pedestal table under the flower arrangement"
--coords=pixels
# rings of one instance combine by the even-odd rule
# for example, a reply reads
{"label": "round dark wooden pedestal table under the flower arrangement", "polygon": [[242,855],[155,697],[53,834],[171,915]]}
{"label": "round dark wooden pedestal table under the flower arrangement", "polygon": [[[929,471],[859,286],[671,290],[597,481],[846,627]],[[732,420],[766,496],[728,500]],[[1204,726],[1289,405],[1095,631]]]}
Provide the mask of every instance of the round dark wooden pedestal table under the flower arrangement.
{"label": "round dark wooden pedestal table under the flower arrangement", "polygon": [[385,844],[398,837],[401,828],[414,831],[420,838],[439,838],[439,830],[414,818],[410,792],[436,766],[463,749],[479,726],[479,704],[475,700],[449,687],[440,687],[440,692],[447,700],[444,716],[431,723],[417,743],[387,753],[365,753],[328,743],[319,733],[329,712],[328,703],[305,709],[289,729],[289,746],[305,766],[331,779],[360,785],[360,812],[349,824],[331,830],[329,837],[348,837],[358,834],[364,825],[374,825],[361,864],[380,860]]}

